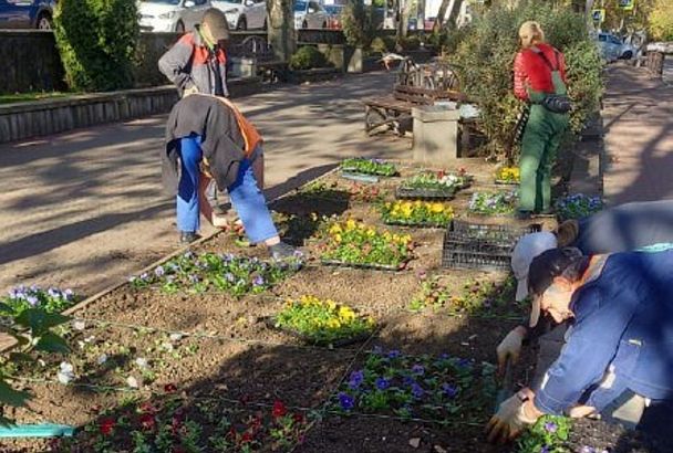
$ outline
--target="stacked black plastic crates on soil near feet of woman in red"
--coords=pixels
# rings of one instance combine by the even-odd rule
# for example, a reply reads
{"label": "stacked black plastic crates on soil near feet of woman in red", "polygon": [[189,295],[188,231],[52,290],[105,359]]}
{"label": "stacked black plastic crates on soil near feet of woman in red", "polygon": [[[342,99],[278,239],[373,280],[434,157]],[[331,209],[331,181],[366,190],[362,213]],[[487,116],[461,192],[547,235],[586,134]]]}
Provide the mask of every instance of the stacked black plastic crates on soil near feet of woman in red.
{"label": "stacked black plastic crates on soil near feet of woman in red", "polygon": [[519,238],[540,229],[540,224],[521,228],[455,220],[444,234],[442,267],[507,270]]}

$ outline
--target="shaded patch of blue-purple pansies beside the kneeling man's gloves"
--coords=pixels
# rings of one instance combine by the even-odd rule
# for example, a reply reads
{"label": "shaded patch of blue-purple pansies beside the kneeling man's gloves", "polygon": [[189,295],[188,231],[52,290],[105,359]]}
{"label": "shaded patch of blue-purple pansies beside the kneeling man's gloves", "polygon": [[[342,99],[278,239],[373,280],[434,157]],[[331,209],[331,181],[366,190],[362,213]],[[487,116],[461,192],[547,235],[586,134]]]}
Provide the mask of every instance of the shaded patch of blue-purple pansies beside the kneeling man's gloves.
{"label": "shaded patch of blue-purple pansies beside the kneeling man's gloves", "polygon": [[375,350],[351,372],[332,402],[343,413],[422,418],[438,423],[484,420],[495,397],[495,368],[448,357]]}

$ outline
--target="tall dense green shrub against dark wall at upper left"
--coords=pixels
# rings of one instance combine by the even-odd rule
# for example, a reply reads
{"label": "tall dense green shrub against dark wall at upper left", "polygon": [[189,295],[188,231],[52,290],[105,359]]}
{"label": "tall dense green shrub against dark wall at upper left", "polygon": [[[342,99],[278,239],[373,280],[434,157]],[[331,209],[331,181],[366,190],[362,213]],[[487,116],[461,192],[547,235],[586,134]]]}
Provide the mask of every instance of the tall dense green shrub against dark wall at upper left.
{"label": "tall dense green shrub against dark wall at upper left", "polygon": [[59,0],[54,34],[71,89],[133,86],[132,69],[139,38],[136,2]]}

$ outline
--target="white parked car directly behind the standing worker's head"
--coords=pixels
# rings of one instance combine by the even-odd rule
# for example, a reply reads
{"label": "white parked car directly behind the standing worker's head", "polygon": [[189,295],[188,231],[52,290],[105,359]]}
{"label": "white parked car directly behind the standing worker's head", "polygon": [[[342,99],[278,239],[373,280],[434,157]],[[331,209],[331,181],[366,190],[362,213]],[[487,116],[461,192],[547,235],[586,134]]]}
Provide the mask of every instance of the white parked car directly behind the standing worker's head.
{"label": "white parked car directly behind the standing worker's head", "polygon": [[200,23],[210,7],[210,0],[142,0],[138,6],[141,29],[184,33]]}

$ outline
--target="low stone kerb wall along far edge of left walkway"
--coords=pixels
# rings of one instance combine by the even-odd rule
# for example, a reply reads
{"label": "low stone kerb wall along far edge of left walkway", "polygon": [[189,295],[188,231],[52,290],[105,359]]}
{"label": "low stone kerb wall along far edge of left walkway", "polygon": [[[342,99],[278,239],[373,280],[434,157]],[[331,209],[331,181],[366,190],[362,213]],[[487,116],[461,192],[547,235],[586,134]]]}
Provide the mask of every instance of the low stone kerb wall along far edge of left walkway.
{"label": "low stone kerb wall along far edge of left walkway", "polygon": [[[241,96],[258,91],[259,80],[232,80],[228,86]],[[163,114],[177,101],[174,86],[159,86],[0,105],[0,143]]]}

